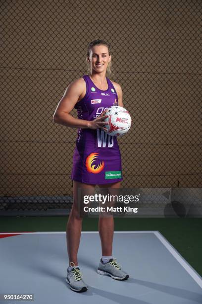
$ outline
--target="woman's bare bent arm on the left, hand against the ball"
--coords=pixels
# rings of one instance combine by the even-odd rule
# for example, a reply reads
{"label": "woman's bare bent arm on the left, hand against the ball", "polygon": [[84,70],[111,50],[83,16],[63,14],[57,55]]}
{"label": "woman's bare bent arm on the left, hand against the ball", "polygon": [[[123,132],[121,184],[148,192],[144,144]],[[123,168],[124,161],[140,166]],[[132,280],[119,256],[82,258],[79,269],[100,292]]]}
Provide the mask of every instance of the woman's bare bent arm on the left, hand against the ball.
{"label": "woman's bare bent arm on the left, hand against the ball", "polygon": [[104,116],[104,113],[92,121],[77,119],[70,114],[85,89],[84,85],[86,84],[82,79],[77,79],[69,84],[56,107],[53,122],[66,127],[102,129],[106,131],[104,125],[107,123],[101,121],[107,117],[107,115]]}

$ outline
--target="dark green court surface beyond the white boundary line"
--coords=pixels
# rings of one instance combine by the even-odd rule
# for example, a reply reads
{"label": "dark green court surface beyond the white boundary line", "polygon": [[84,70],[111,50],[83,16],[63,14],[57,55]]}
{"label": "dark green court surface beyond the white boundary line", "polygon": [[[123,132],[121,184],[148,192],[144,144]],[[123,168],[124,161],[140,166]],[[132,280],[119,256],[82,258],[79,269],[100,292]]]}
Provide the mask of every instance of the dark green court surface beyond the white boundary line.
{"label": "dark green court surface beyond the white boundary line", "polygon": [[[0,217],[0,232],[65,231],[68,217]],[[202,276],[202,219],[115,218],[115,230],[158,230]],[[83,231],[98,230],[98,218],[84,218]],[[138,248],[137,248],[138,250]]]}

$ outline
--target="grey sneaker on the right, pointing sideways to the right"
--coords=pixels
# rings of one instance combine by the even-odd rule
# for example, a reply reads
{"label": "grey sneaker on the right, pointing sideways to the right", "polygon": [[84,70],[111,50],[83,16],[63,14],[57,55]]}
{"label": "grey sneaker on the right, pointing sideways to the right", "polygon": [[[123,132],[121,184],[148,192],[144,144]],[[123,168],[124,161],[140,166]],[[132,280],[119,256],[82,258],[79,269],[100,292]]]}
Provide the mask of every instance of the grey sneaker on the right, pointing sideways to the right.
{"label": "grey sneaker on the right, pointing sideways to the right", "polygon": [[103,264],[101,259],[97,272],[103,276],[110,276],[111,278],[120,281],[124,281],[129,278],[129,275],[125,271],[121,270],[116,259],[110,259],[106,264]]}

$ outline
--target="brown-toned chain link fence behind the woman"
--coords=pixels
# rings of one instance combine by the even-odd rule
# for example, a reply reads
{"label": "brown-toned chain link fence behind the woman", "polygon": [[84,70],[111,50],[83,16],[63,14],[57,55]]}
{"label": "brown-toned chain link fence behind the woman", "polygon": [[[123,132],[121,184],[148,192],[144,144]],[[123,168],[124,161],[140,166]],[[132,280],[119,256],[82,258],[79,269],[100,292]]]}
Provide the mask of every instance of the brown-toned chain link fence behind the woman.
{"label": "brown-toned chain link fence behind the woman", "polygon": [[0,0],[0,16],[2,215],[71,208],[76,129],[52,116],[95,39],[133,119],[122,187],[202,187],[200,0]]}

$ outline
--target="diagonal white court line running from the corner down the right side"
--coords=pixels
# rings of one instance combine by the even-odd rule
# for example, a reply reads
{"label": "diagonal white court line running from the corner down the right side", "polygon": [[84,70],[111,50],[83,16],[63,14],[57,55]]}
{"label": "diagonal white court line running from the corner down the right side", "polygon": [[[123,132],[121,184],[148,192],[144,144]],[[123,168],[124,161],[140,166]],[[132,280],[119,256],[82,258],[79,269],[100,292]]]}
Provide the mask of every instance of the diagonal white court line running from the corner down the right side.
{"label": "diagonal white court line running from the corner down the right side", "polygon": [[193,280],[202,288],[202,277],[196,272],[196,270],[181,256],[175,247],[173,247],[159,231],[153,231],[153,233],[180,263],[180,265],[189,273]]}

